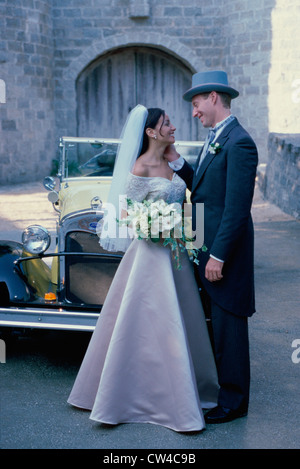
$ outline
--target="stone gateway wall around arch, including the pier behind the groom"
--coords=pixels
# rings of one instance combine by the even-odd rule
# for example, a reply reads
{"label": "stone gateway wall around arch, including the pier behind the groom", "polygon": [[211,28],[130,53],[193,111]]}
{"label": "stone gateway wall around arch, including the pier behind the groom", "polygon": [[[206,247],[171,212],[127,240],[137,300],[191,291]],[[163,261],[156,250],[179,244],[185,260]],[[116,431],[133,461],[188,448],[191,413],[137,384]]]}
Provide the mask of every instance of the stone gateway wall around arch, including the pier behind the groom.
{"label": "stone gateway wall around arch, including the pier behind the groom", "polygon": [[[85,0],[79,7],[78,0],[54,0],[56,128],[76,133],[74,81],[84,67],[109,50],[149,45],[180,58],[192,72],[226,70],[240,91],[232,111],[266,161],[270,17],[275,1]],[[132,14],[134,3],[148,5],[145,16]]]}

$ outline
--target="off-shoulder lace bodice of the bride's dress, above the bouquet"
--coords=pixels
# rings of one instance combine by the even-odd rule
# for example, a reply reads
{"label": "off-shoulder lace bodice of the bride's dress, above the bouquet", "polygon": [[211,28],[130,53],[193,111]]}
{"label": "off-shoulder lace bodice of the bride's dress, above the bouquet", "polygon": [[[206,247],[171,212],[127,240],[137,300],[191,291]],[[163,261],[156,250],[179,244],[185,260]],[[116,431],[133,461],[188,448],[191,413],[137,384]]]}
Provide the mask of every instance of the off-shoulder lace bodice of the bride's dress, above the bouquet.
{"label": "off-shoulder lace bodice of the bride's dress, above the bouquet", "polygon": [[142,200],[163,199],[167,203],[182,203],[185,199],[186,184],[174,173],[172,180],[163,177],[142,177],[129,173],[126,195],[129,199]]}

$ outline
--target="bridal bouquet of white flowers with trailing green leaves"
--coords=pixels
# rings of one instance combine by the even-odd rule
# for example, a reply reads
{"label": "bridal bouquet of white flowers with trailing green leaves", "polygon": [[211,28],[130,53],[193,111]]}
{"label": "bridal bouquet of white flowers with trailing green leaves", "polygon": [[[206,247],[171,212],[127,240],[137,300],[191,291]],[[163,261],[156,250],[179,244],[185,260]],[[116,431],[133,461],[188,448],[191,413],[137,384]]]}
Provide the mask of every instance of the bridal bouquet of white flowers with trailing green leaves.
{"label": "bridal bouquet of white flowers with trailing green leaves", "polygon": [[[144,200],[143,202],[127,199],[127,217],[119,220],[129,227],[133,237],[170,246],[177,269],[181,268],[179,254],[186,249],[186,238],[182,226],[182,207],[179,203],[168,204],[164,200]],[[197,252],[190,250],[194,262]]]}

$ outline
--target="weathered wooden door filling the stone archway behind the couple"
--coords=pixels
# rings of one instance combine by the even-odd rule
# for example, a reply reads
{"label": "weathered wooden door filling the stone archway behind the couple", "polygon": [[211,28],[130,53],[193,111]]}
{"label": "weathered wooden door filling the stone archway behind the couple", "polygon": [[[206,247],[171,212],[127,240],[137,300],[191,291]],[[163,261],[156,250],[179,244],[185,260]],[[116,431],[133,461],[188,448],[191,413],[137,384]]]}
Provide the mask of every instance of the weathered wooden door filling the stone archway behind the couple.
{"label": "weathered wooden door filling the stone archway behind the couple", "polygon": [[78,136],[118,138],[128,112],[143,104],[166,110],[177,140],[198,140],[199,126],[182,98],[191,77],[186,65],[152,47],[119,48],[99,57],[76,81]]}

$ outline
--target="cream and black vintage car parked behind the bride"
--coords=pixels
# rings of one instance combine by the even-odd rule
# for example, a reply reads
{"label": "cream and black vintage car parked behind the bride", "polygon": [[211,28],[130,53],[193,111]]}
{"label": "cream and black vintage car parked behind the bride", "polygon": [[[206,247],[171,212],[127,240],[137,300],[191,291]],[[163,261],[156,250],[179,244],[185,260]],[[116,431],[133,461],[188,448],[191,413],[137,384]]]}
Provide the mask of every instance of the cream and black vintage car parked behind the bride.
{"label": "cream and black vintage car parked behind the bride", "polygon": [[[60,139],[57,178],[44,179],[57,216],[55,247],[39,224],[24,230],[22,243],[0,240],[0,328],[94,329],[122,258],[101,248],[97,232],[118,144]],[[201,145],[176,143],[192,164]]]}

